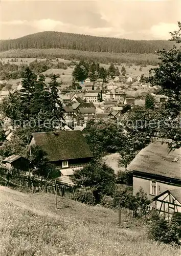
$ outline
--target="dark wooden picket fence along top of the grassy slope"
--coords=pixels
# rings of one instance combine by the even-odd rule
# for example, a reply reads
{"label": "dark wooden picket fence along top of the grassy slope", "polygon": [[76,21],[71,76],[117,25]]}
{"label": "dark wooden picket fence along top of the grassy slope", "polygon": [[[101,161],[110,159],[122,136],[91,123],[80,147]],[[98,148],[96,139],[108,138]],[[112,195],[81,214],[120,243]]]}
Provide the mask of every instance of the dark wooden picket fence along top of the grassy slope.
{"label": "dark wooden picket fence along top of the grassy slope", "polygon": [[30,177],[26,173],[16,172],[16,170],[0,169],[0,184],[4,186],[14,186],[29,188],[36,192],[57,194],[58,196],[74,199],[73,187],[63,184],[56,184],[56,181]]}

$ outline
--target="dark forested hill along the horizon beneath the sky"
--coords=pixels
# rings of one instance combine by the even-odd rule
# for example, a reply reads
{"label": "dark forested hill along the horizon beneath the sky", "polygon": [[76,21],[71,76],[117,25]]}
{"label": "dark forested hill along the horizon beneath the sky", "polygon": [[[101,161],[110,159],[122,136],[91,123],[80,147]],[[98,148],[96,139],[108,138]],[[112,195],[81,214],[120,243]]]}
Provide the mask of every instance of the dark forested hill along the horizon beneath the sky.
{"label": "dark forested hill along the horizon beneath the sky", "polygon": [[1,51],[61,48],[110,53],[155,53],[157,49],[171,46],[172,42],[166,40],[128,40],[52,31],[0,41]]}

